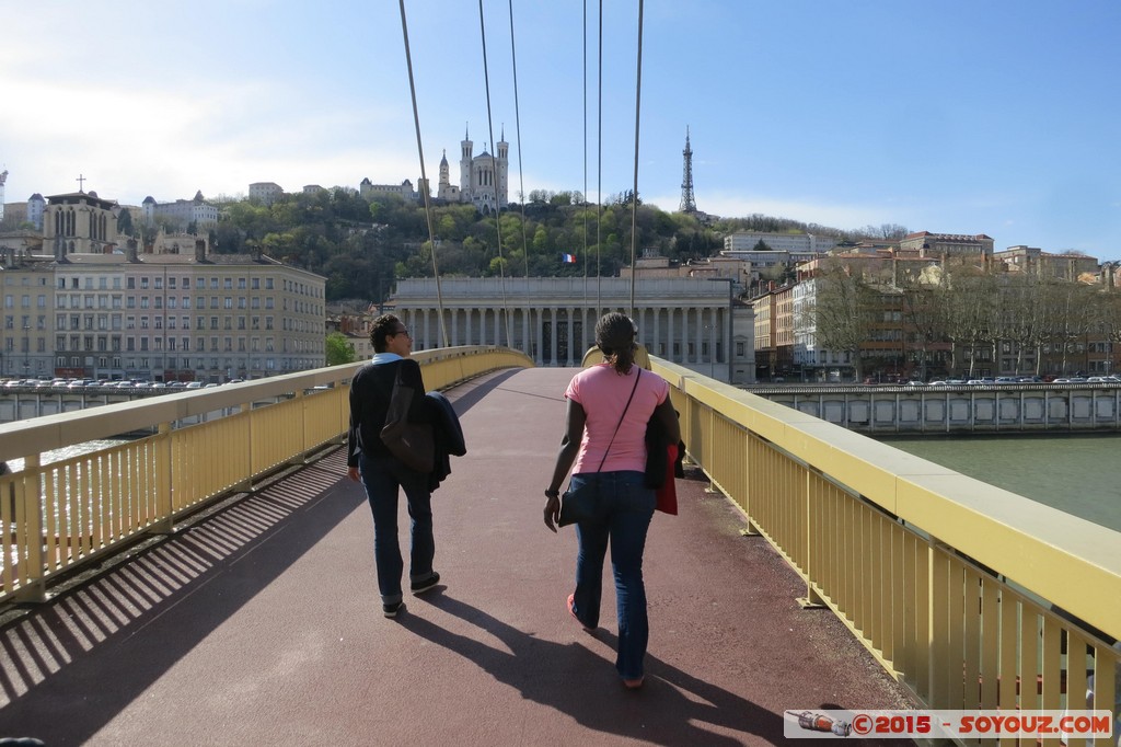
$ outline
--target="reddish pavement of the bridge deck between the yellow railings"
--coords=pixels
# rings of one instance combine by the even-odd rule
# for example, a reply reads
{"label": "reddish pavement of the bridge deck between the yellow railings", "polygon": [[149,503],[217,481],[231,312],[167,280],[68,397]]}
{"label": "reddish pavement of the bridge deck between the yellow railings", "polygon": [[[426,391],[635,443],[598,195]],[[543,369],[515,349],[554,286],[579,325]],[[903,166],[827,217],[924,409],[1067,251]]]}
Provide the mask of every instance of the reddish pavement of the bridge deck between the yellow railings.
{"label": "reddish pavement of the bridge deck between the yellow railings", "polygon": [[613,585],[603,627],[583,633],[564,605],[575,534],[541,522],[574,372],[448,393],[467,455],[433,500],[443,580],[398,619],[381,616],[370,513],[335,451],[10,620],[0,737],[740,745],[784,741],[785,709],[906,708],[832,614],[797,607],[804,584],[740,536],[739,511],[693,480],[678,482],[679,516],[655,517],[647,684],[622,688]]}

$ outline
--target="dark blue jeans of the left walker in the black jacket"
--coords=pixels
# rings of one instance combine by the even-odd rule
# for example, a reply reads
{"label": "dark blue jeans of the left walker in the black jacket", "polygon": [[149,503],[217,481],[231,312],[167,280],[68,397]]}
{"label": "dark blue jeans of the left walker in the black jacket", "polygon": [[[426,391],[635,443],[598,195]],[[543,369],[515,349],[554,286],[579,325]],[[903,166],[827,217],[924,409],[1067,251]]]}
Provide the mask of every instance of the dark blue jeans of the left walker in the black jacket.
{"label": "dark blue jeans of the left walker in the black jacket", "polygon": [[416,472],[388,454],[359,457],[359,472],[365,496],[373,511],[373,560],[378,566],[378,591],[381,602],[401,601],[401,547],[397,540],[398,488],[405,490],[411,519],[411,552],[409,580],[432,578],[432,561],[436,555],[436,541],[432,534],[432,491],[428,476]]}

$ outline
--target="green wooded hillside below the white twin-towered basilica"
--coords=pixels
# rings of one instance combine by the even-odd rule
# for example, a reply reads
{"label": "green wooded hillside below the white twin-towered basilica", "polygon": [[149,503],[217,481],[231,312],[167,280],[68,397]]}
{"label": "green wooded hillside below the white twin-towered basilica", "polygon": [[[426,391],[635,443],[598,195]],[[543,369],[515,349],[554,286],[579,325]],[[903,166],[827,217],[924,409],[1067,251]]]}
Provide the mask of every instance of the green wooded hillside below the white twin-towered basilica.
{"label": "green wooded hillside below the white twin-towered basilica", "polygon": [[[524,208],[511,205],[498,218],[471,205],[435,205],[432,229],[441,276],[583,276],[586,262],[589,275],[611,277],[630,265],[629,192],[602,206],[585,204],[572,192],[536,191],[529,196]],[[214,251],[261,251],[323,275],[328,302],[381,302],[398,278],[432,277],[435,271],[424,208],[396,195],[367,201],[355,190],[335,187],[286,194],[271,205],[241,200],[219,206],[221,219],[210,231]],[[652,249],[680,262],[715,255],[723,237],[734,231],[808,230],[845,237],[837,229],[765,215],[702,222],[641,201],[636,227],[640,253]],[[562,262],[565,253],[577,261]]]}

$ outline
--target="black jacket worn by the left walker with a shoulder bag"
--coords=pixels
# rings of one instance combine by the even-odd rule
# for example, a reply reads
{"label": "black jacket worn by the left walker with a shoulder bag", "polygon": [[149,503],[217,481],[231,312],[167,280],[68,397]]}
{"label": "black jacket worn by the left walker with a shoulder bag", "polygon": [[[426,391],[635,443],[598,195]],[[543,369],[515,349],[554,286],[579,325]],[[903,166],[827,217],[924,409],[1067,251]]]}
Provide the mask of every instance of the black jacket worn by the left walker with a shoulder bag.
{"label": "black jacket worn by the left walker with a shoulder bag", "polygon": [[[367,363],[354,374],[350,390],[350,434],[346,439],[346,465],[358,467],[359,454],[388,455],[381,441],[389,398],[393,394],[397,371],[401,381],[414,391],[424,391],[420,366],[409,358],[388,363]],[[427,397],[415,397],[409,406],[410,423],[434,423],[435,412]]]}

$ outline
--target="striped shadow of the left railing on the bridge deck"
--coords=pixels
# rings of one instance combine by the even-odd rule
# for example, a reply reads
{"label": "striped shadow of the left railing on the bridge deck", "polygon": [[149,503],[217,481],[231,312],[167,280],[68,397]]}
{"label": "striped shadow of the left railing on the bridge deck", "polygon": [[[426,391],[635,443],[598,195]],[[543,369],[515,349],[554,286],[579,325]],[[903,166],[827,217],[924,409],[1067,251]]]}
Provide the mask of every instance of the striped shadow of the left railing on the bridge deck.
{"label": "striped shadow of the left railing on the bridge deck", "polygon": [[[361,490],[332,491],[344,464],[335,450],[9,621],[0,630],[4,720],[52,723],[67,744],[93,736],[364,505]],[[250,554],[252,573],[232,572]],[[121,657],[130,638],[131,655]],[[37,698],[44,689],[50,697]],[[70,699],[96,707],[56,710]]]}

